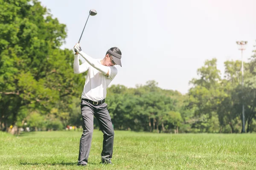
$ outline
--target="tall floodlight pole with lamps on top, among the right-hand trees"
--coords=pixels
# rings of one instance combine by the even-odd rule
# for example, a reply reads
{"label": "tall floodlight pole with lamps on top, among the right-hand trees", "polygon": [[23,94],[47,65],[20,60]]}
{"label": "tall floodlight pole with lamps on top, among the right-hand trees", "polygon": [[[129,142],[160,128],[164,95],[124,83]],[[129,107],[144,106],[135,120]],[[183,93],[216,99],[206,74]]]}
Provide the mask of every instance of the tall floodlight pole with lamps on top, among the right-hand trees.
{"label": "tall floodlight pole with lamps on top, among the right-hand trees", "polygon": [[244,61],[243,61],[243,50],[245,50],[245,45],[247,41],[237,41],[236,44],[238,45],[238,49],[241,50],[241,57],[242,57],[242,133],[245,133],[245,120],[244,120]]}

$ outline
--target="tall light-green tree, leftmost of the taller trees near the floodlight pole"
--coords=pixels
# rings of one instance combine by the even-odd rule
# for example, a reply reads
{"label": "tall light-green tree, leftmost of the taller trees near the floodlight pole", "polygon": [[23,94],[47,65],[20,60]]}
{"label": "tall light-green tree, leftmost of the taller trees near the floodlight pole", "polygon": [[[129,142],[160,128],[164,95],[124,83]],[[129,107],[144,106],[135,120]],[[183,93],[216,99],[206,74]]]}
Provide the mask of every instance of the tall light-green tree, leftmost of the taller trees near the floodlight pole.
{"label": "tall light-green tree, leftmost of the taller trees near the floodlight pole", "polygon": [[[192,127],[200,132],[217,132],[219,129],[216,105],[219,102],[220,71],[217,69],[217,59],[206,60],[198,69],[199,79],[192,79],[194,85],[189,90],[188,108],[194,110]],[[217,119],[216,119],[217,118]]]}

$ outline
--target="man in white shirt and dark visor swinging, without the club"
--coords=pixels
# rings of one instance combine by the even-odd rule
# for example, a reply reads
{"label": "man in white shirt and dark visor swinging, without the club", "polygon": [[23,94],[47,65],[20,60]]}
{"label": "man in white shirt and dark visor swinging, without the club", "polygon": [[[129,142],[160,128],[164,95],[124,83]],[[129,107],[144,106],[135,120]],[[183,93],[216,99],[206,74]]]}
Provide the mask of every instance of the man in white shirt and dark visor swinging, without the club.
{"label": "man in white shirt and dark visor swinging, without the club", "polygon": [[[112,164],[114,129],[108,113],[105,97],[107,87],[117,74],[114,65],[121,64],[121,51],[117,47],[110,48],[103,59],[93,59],[85,54],[79,44],[74,46],[74,73],[87,72],[84,90],[81,95],[81,115],[84,123],[80,139],[78,165],[85,166],[93,135],[93,116],[97,119],[103,133],[102,164]],[[79,65],[79,54],[86,60]]]}

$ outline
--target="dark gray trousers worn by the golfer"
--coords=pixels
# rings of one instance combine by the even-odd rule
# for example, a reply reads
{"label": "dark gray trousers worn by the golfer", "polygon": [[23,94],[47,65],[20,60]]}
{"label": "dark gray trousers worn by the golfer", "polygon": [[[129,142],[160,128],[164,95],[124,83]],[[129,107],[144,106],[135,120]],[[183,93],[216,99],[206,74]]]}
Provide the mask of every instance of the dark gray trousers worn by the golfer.
{"label": "dark gray trousers worn by the golfer", "polygon": [[111,163],[113,154],[114,129],[107,104],[93,105],[81,100],[81,115],[84,123],[80,139],[78,164],[87,164],[93,137],[93,116],[97,119],[103,133],[102,163]]}

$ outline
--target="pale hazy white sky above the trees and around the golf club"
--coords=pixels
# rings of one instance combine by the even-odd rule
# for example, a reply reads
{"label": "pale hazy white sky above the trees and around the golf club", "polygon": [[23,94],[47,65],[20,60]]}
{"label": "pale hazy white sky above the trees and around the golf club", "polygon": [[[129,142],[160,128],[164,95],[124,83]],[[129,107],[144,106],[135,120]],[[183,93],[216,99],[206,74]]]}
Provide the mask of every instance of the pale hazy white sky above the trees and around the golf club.
{"label": "pale hazy white sky above the trees and around the golf club", "polygon": [[[243,60],[256,50],[256,0],[39,0],[67,26],[61,48],[104,58],[111,47],[122,52],[122,67],[110,85],[135,88],[155,80],[158,87],[186,94],[197,69],[216,58],[241,60],[236,41],[247,41]],[[73,57],[73,56],[71,56]],[[82,60],[84,62],[84,60]]]}

